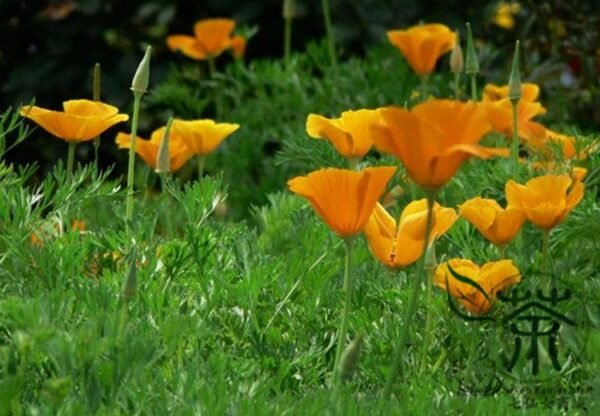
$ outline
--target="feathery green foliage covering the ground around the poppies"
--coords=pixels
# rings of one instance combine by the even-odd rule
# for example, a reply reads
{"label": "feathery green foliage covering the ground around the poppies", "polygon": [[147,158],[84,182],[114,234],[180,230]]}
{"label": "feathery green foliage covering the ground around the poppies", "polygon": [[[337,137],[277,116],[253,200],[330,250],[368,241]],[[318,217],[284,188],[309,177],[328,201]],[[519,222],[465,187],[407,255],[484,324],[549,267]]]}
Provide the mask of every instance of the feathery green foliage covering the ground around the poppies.
{"label": "feathery green foliage covering the ground around the poppies", "polygon": [[[561,311],[578,323],[560,333],[562,372],[542,357],[540,377],[531,376],[524,358],[508,374],[501,357],[513,340],[506,328],[463,322],[434,290],[426,360],[422,297],[403,357],[405,381],[383,399],[416,270],[385,269],[361,237],[349,334],[363,333],[365,341],[356,374],[333,402],[328,383],[342,311],[343,244],[285,181],[344,163],[327,143],[308,138],[308,113],[403,105],[416,79],[391,47],[342,62],[337,71],[325,59],[313,46],[290,67],[234,64],[204,81],[174,69],[149,97],[145,117],[210,115],[211,94],[218,93],[219,120],[242,128],[208,157],[210,176],[202,181],[186,180],[192,174],[184,170],[161,191],[146,187],[152,172],[138,175],[133,235],[124,227],[125,190],[106,172],[79,167],[69,179],[59,162],[34,183],[35,166],[0,162],[0,414],[593,414],[600,390],[596,155],[586,162],[584,200],[550,237],[552,267],[575,294]],[[186,83],[206,88],[208,98],[182,88]],[[431,80],[439,95],[450,85],[444,75]],[[10,130],[11,114],[0,132]],[[0,134],[0,149],[6,139],[26,136],[22,122],[15,125]],[[368,161],[396,163],[376,153]],[[440,202],[501,200],[512,174],[510,160],[472,160]],[[396,211],[421,196],[406,191]],[[85,220],[87,230],[71,231],[73,219]],[[33,231],[43,244],[30,242]],[[529,225],[509,247],[524,287],[539,283],[533,276],[540,247],[541,234]],[[462,219],[437,253],[439,260],[464,256],[480,264],[497,257]],[[132,273],[136,285],[127,297]]]}

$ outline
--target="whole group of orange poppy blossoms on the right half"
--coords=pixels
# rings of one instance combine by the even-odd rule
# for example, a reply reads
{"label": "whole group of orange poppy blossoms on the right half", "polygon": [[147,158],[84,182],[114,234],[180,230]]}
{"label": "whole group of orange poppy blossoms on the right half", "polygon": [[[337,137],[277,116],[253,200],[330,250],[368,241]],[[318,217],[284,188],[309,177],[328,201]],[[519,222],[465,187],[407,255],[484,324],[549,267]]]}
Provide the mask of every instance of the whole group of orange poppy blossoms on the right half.
{"label": "whole group of orange poppy blossoms on the right half", "polygon": [[[411,68],[420,76],[431,73],[438,59],[455,47],[456,35],[441,24],[420,25],[388,32]],[[565,158],[584,157],[576,152],[574,139],[532,121],[545,109],[536,101],[539,88],[524,84],[519,101],[518,136],[531,152],[540,151],[549,160],[549,147],[560,145]],[[345,111],[338,118],[308,116],[309,136],[331,142],[349,163],[349,169],[324,168],[291,179],[290,190],[305,197],[316,213],[344,239],[364,233],[374,257],[391,268],[408,266],[425,255],[427,247],[454,224],[459,214],[501,253],[526,220],[542,230],[561,222],[582,197],[581,173],[547,175],[525,185],[506,184],[508,206],[476,197],[464,202],[459,213],[435,201],[439,190],[452,179],[470,157],[487,159],[508,156],[506,148],[484,147],[479,142],[491,132],[513,137],[513,115],[508,86],[489,84],[480,102],[429,99],[411,109],[384,107]],[[377,202],[382,198],[395,167],[363,166],[361,158],[371,148],[395,156],[409,178],[427,198],[409,203],[398,221]],[[428,218],[429,217],[429,218]],[[466,276],[469,285],[448,272]],[[434,271],[433,282],[456,297],[470,312],[486,313],[496,294],[520,281],[511,260],[489,262],[479,267],[469,259],[452,259]],[[479,286],[479,287],[477,287]],[[481,293],[481,289],[485,293]]]}

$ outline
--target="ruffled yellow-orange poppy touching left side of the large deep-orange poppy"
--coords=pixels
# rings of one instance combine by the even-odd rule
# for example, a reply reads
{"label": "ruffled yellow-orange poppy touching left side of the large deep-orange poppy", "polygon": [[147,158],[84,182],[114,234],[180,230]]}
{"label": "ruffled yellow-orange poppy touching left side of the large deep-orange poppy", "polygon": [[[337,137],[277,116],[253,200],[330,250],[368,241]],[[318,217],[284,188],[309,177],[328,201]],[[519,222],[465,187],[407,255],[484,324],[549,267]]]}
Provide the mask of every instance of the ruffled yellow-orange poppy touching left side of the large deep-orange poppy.
{"label": "ruffled yellow-orange poppy touching left side of the large deep-orange poppy", "polygon": [[371,125],[378,119],[376,110],[344,111],[340,118],[334,119],[310,114],[306,131],[315,139],[329,140],[346,158],[361,158],[373,146]]}

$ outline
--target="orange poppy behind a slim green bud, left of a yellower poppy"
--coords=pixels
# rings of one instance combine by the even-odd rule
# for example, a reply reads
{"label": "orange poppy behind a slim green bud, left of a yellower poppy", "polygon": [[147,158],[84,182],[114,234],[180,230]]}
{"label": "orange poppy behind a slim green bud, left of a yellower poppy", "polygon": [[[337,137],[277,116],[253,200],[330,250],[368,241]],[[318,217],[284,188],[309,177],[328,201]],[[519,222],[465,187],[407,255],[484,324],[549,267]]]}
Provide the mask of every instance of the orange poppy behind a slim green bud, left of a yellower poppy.
{"label": "orange poppy behind a slim green bud, left of a yellower poppy", "polygon": [[[144,162],[152,169],[156,169],[158,149],[165,135],[166,127],[163,126],[152,132],[150,140],[142,139],[138,136],[135,141],[135,152],[142,158]],[[131,135],[119,133],[116,138],[116,143],[119,149],[129,149],[131,147]],[[172,172],[176,172],[193,156],[192,152],[183,143],[177,134],[174,134],[171,127],[169,136],[169,162]]]}

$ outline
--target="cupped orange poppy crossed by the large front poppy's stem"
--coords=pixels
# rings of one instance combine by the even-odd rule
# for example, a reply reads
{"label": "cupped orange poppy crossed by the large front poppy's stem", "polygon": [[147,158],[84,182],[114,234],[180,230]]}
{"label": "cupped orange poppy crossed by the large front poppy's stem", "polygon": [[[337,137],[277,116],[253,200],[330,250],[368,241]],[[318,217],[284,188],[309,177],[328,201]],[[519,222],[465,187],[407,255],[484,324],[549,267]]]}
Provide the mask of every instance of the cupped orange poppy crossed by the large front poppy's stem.
{"label": "cupped orange poppy crossed by the large front poppy's stem", "polygon": [[[457,219],[456,211],[433,205],[429,243],[450,229]],[[363,232],[373,256],[388,267],[403,267],[421,257],[427,225],[427,199],[408,204],[398,224],[381,204],[377,204]]]}

